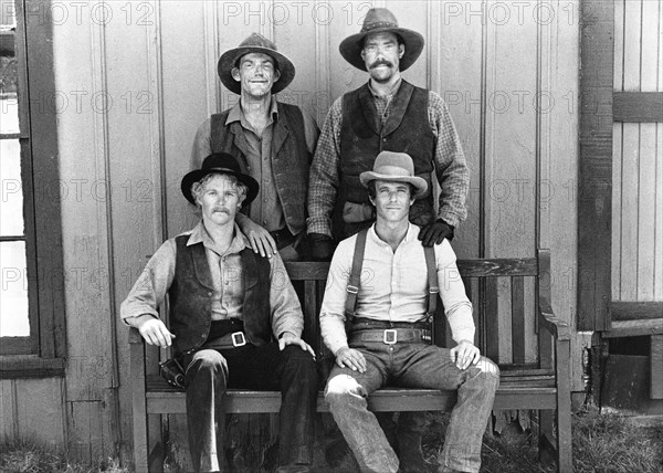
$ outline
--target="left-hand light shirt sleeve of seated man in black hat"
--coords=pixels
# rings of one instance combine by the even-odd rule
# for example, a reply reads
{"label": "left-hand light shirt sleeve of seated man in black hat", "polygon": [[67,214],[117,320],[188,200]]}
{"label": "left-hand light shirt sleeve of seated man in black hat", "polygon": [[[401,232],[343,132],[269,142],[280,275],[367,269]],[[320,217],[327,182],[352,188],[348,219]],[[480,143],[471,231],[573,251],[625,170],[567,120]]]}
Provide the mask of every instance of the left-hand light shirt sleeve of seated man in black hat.
{"label": "left-hand light shirt sleeve of seated man in black hat", "polygon": [[167,240],[149,259],[145,270],[119,307],[119,315],[127,325],[133,317],[151,315],[159,318],[158,307],[175,277],[177,249],[175,240]]}

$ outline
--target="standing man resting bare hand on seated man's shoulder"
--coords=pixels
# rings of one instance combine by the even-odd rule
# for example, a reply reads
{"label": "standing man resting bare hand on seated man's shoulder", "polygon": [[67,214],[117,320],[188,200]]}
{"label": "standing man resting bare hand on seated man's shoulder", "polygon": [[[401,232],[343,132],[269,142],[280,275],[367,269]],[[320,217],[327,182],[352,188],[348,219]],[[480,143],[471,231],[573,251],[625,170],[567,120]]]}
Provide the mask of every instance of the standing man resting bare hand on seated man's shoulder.
{"label": "standing man resting bare hand on seated man's shoulder", "polygon": [[283,261],[302,259],[308,169],[318,137],[315,120],[274,94],[295,77],[295,66],[276,45],[253,33],[219,59],[225,87],[238,103],[204,120],[196,133],[191,169],[212,153],[229,153],[260,183],[260,193],[236,222],[253,251]]}

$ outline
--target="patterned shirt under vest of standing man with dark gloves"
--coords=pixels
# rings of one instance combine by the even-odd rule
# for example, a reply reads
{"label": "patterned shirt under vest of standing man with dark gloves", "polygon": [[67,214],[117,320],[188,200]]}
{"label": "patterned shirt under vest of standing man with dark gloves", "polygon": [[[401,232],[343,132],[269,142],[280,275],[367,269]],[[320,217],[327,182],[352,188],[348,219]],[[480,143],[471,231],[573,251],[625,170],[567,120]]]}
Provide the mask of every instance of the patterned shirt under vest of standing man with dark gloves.
{"label": "patterned shirt under vest of standing man with dark gloves", "polygon": [[[371,88],[373,103],[382,124],[393,108],[393,96],[402,78],[387,97],[377,96]],[[370,88],[370,82],[369,82]],[[467,217],[465,198],[470,190],[470,170],[463,154],[461,139],[442,97],[429,91],[428,118],[435,136],[433,162],[440,183],[440,211],[438,216],[446,223],[457,227]],[[338,97],[325,119],[325,125],[311,165],[308,183],[307,233],[323,233],[332,236],[332,213],[336,204],[340,183],[340,128],[343,124],[343,96]]]}

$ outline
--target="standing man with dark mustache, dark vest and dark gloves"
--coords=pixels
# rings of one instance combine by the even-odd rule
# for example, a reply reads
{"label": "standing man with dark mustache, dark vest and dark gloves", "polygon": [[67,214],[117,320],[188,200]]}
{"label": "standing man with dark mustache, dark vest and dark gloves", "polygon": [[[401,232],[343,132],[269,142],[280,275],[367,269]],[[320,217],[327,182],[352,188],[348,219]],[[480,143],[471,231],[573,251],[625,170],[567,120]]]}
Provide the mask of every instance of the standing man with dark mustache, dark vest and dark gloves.
{"label": "standing man with dark mustache, dark vest and dark gloves", "polygon": [[[460,138],[444,101],[432,91],[401,77],[423,50],[423,38],[398,27],[393,13],[369,10],[361,32],[345,39],[340,54],[367,71],[369,81],[339,97],[329,109],[311,167],[307,232],[314,260],[328,260],[334,242],[368,228],[376,220],[373,207],[359,181],[372,168],[380,151],[407,153],[414,172],[427,182],[409,211],[425,246],[453,238],[465,219],[470,171]],[[432,175],[441,193],[433,207]],[[381,421],[386,418],[381,416]],[[398,444],[401,471],[420,471],[422,414],[401,413]]]}

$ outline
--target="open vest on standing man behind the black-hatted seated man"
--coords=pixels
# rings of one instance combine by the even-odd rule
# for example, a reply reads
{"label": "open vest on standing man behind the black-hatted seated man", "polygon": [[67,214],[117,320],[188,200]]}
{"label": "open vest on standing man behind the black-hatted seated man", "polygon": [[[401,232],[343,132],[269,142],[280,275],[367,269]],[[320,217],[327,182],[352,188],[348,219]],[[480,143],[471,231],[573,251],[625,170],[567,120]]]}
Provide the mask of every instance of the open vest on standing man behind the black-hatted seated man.
{"label": "open vest on standing man behind the black-hatted seated man", "polygon": [[[240,122],[225,125],[230,109],[212,115],[212,153],[229,153],[246,171],[248,144]],[[295,105],[278,103],[272,134],[272,172],[288,230],[297,234],[306,223],[306,193],[312,156],[306,148],[304,117]],[[249,209],[243,209],[248,214]]]}

